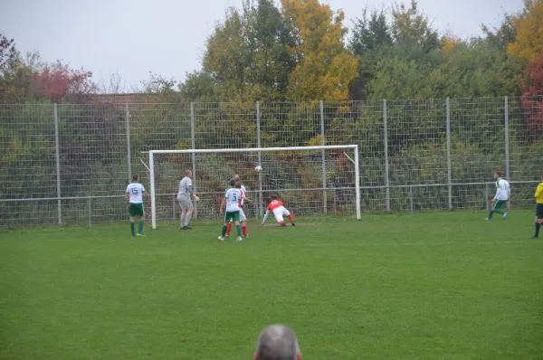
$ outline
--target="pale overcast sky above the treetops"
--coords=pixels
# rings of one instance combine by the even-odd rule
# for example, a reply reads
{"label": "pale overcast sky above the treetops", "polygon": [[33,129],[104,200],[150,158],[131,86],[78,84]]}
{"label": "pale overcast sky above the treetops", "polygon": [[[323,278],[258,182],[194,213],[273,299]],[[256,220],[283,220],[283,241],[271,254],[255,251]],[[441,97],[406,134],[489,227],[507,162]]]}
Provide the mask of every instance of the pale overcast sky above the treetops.
{"label": "pale overcast sky above the treetops", "polygon": [[[22,51],[37,50],[46,62],[62,60],[93,71],[95,81],[119,73],[128,87],[148,72],[185,79],[200,68],[205,39],[228,6],[242,0],[4,0],[0,32]],[[402,0],[399,0],[402,1]],[[409,0],[403,0],[407,3]],[[346,25],[364,5],[389,7],[394,0],[328,0],[343,9]],[[419,7],[444,32],[462,38],[481,34],[481,24],[500,24],[522,0],[419,0]]]}

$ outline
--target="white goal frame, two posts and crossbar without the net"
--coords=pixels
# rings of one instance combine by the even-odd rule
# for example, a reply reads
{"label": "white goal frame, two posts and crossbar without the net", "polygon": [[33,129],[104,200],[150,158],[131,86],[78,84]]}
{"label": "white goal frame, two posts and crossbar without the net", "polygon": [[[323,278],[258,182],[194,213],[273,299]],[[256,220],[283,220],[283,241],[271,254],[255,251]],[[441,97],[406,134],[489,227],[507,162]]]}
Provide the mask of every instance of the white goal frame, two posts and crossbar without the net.
{"label": "white goal frame, two posts and crossbar without the net", "polygon": [[[338,150],[352,148],[355,153],[355,193],[357,220],[360,220],[360,169],[358,166],[358,146],[357,145],[323,145],[314,147],[248,147],[248,148],[203,148],[203,149],[184,149],[184,150],[149,150],[142,151],[142,154],[149,156],[149,187],[151,195],[151,224],[153,229],[157,229],[157,203],[155,192],[155,155],[158,154],[209,154],[209,153],[261,153],[270,151],[305,151],[305,150]],[[260,164],[259,164],[260,165]]]}

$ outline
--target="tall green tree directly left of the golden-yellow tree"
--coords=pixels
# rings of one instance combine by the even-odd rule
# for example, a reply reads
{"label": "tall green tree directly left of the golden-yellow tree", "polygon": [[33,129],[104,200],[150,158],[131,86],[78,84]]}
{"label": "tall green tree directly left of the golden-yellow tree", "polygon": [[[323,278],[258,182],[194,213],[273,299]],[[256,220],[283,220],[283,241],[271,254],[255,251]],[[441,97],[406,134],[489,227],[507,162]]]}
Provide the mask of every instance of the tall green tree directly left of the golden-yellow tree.
{"label": "tall green tree directly left of the golden-yellow tree", "polygon": [[[219,99],[285,99],[295,64],[292,42],[291,29],[271,0],[246,0],[241,11],[229,10],[207,40],[200,79],[214,82]],[[189,78],[193,90],[195,79]],[[209,93],[210,88],[202,90]]]}

